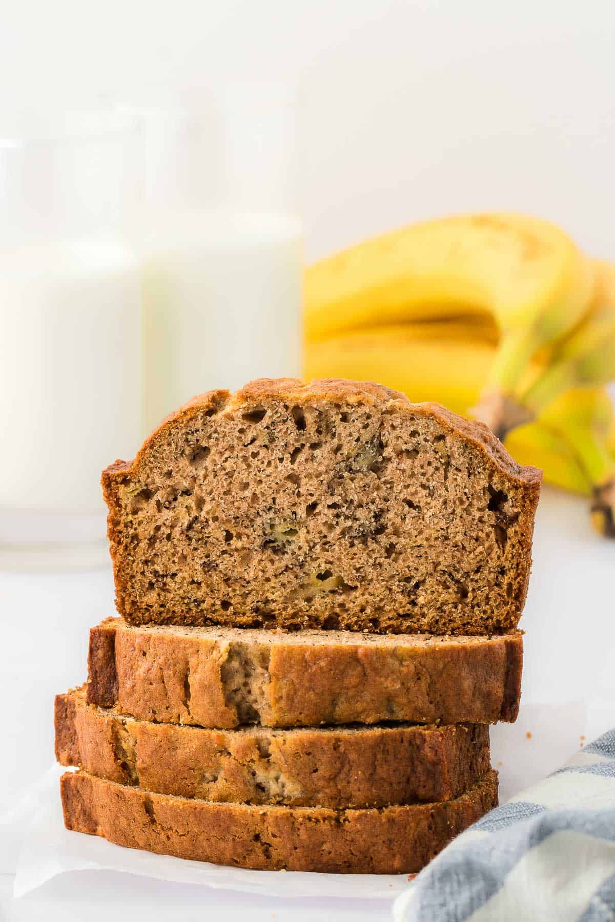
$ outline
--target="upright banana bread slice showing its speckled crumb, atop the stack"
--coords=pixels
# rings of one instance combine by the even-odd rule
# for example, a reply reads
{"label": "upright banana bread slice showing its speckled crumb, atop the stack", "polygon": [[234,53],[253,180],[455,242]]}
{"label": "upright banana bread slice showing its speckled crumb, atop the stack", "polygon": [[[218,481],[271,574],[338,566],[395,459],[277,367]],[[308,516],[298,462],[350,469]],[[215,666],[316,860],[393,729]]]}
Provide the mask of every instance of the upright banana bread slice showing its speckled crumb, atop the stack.
{"label": "upright banana bread slice showing its speckled crumb, atop the stack", "polygon": [[132,623],[480,634],[516,627],[540,472],[378,384],[195,397],[102,474]]}

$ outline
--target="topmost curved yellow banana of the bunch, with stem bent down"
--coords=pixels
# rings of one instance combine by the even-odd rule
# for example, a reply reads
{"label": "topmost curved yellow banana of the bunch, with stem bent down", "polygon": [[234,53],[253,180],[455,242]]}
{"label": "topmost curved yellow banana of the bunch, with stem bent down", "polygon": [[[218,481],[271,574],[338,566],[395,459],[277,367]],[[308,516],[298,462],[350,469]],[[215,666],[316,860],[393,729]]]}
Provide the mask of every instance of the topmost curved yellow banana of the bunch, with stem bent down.
{"label": "topmost curved yellow banana of the bunch, with stem bent down", "polygon": [[488,388],[510,394],[531,357],[585,313],[592,276],[546,221],[469,215],[411,225],[308,268],[308,342],[365,326],[491,315],[501,335]]}

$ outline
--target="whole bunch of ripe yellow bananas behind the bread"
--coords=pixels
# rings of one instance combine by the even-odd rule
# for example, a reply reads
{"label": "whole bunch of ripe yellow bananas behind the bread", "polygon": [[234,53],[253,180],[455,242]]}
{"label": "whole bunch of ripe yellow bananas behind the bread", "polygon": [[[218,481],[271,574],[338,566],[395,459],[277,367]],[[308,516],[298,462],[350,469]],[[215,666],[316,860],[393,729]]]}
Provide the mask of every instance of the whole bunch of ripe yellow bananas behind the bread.
{"label": "whole bunch of ripe yellow bananas behind the bread", "polygon": [[304,373],[483,420],[519,462],[590,496],[615,537],[615,267],[552,224],[433,220],[309,267]]}

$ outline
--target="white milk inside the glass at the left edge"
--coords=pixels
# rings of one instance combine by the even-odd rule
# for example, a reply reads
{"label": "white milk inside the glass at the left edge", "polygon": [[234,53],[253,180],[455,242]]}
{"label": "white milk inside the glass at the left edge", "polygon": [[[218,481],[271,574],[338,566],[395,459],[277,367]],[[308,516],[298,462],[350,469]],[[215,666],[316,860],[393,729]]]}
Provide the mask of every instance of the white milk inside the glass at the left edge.
{"label": "white milk inside the glass at the left edge", "polygon": [[[123,245],[0,250],[0,541],[19,539],[19,511],[102,511],[102,468],[142,435],[141,353],[139,266]],[[34,530],[71,538],[53,528]]]}

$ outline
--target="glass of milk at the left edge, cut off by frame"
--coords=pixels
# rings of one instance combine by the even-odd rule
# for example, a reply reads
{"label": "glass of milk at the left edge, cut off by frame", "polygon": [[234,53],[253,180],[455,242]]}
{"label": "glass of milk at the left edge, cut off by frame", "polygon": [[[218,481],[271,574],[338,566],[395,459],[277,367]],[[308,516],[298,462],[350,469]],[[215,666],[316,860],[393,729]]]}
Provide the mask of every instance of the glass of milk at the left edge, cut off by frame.
{"label": "glass of milk at the left edge, cut off by frame", "polygon": [[101,470],[142,436],[126,119],[0,140],[0,567],[107,561]]}

